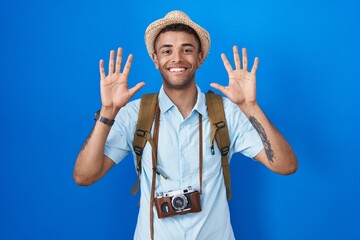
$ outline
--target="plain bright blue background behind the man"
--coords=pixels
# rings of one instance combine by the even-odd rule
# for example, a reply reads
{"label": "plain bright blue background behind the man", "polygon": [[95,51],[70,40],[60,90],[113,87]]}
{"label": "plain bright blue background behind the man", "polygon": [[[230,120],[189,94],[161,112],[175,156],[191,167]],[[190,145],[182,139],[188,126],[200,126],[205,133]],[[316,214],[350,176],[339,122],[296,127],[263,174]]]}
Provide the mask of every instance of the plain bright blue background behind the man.
{"label": "plain bright blue background behind the man", "polygon": [[258,101],[295,150],[295,175],[236,155],[238,239],[360,239],[360,3],[296,1],[5,1],[0,3],[0,239],[132,239],[139,196],[131,158],[90,187],[72,179],[100,107],[98,60],[133,53],[136,95],[161,81],[147,25],[180,9],[211,34],[204,91],[227,83],[220,54],[260,58]]}

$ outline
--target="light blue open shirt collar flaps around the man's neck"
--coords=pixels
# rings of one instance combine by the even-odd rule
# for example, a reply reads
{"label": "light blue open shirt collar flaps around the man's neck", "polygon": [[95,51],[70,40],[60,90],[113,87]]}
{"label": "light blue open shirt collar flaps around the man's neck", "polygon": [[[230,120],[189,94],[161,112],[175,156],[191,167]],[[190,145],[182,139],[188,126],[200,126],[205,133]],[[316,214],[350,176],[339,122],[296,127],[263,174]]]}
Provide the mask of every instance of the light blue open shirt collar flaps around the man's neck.
{"label": "light blue open shirt collar flaps around the man's neck", "polygon": [[[201,115],[203,115],[205,117],[205,116],[207,116],[205,94],[201,92],[201,89],[198,86],[196,86],[196,89],[197,89],[197,101],[195,103],[193,111],[196,110],[198,113],[200,113]],[[167,112],[174,106],[175,106],[175,104],[166,95],[166,93],[164,91],[164,87],[161,86],[160,91],[159,91],[159,107],[160,107],[161,113],[163,114],[163,113]]]}

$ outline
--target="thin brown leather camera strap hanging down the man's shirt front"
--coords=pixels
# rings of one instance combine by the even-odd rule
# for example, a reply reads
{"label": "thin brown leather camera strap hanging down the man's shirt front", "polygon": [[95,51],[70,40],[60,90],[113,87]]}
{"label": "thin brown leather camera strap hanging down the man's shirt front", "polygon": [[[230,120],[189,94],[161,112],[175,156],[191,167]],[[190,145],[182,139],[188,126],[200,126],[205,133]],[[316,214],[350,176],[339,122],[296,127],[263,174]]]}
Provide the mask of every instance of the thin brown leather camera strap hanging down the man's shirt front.
{"label": "thin brown leather camera strap hanging down the man's shirt front", "polygon": [[[151,195],[150,195],[150,237],[154,240],[154,195],[157,171],[157,146],[159,140],[159,126],[160,126],[160,108],[156,105],[155,112],[155,126],[153,135],[153,149],[152,149],[152,181],[151,181]],[[202,115],[199,113],[199,180],[200,180],[200,194],[202,193],[202,168],[203,168],[203,137],[202,137]]]}

